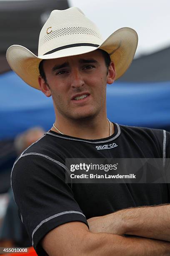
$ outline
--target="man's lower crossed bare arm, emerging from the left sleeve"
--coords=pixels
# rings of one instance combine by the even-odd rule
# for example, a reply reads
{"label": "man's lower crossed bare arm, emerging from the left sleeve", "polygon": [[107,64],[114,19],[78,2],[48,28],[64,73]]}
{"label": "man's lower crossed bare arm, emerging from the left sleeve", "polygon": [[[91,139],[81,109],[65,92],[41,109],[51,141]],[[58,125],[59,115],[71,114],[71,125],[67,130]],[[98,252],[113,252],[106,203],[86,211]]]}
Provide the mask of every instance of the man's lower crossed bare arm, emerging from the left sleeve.
{"label": "man's lower crossed bare arm, emerging from the left sleeve", "polygon": [[129,238],[92,233],[81,222],[70,222],[51,230],[42,239],[49,256],[168,256],[170,243],[148,238]]}

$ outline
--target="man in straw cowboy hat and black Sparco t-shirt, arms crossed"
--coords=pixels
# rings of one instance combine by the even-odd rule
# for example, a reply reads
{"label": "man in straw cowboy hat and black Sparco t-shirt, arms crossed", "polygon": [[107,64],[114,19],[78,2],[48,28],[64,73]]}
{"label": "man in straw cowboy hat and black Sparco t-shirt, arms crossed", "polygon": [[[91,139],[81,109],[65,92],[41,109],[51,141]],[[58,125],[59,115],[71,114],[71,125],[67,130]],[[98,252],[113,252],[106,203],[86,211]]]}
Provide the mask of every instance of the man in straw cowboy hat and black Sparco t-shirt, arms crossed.
{"label": "man in straw cowboy hat and black Sparco t-shirt, arms crossed", "polygon": [[169,184],[65,182],[67,158],[162,158],[166,165],[169,133],[107,119],[106,84],[126,71],[137,43],[131,28],[103,42],[82,11],[69,8],[50,14],[38,57],[23,46],[7,50],[12,69],[52,96],[55,109],[51,130],[12,170],[20,218],[38,255],[170,255]]}

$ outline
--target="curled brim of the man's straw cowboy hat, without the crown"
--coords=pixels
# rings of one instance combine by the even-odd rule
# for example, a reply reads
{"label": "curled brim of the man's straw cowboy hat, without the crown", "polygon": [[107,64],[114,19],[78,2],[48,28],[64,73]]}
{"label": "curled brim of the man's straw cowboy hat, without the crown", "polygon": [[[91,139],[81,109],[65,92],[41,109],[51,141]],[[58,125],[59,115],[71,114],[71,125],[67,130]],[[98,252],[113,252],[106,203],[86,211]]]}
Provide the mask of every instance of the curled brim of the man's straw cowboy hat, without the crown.
{"label": "curled brim of the man's straw cowboy hat, without the crown", "polygon": [[120,28],[112,33],[100,46],[74,46],[59,49],[50,54],[36,56],[20,45],[12,45],[7,49],[7,62],[11,69],[27,84],[40,90],[38,84],[39,64],[42,59],[56,59],[66,56],[85,54],[102,49],[110,54],[115,64],[116,79],[122,76],[130,66],[138,45],[138,34],[132,28]]}

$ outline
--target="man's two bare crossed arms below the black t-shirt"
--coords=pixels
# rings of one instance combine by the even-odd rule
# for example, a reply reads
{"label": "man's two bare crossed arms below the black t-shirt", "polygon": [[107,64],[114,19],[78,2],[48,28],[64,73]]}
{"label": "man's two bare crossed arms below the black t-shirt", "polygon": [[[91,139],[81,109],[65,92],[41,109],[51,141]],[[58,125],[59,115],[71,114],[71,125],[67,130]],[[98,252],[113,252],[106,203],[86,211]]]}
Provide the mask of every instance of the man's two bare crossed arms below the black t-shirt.
{"label": "man's two bare crossed arms below the black t-shirt", "polygon": [[42,240],[48,255],[170,255],[170,205],[130,208],[87,221],[90,230],[80,222],[51,230]]}

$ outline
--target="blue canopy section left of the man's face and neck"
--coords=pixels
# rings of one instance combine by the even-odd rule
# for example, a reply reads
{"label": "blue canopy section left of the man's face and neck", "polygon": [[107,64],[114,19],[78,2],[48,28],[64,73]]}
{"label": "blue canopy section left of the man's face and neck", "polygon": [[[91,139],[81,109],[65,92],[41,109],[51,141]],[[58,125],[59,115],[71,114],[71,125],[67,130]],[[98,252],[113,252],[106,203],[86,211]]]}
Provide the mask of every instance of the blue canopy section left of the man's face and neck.
{"label": "blue canopy section left of the man's face and neck", "polygon": [[28,86],[13,71],[0,75],[0,139],[14,138],[32,126],[45,130],[54,121],[51,98]]}

